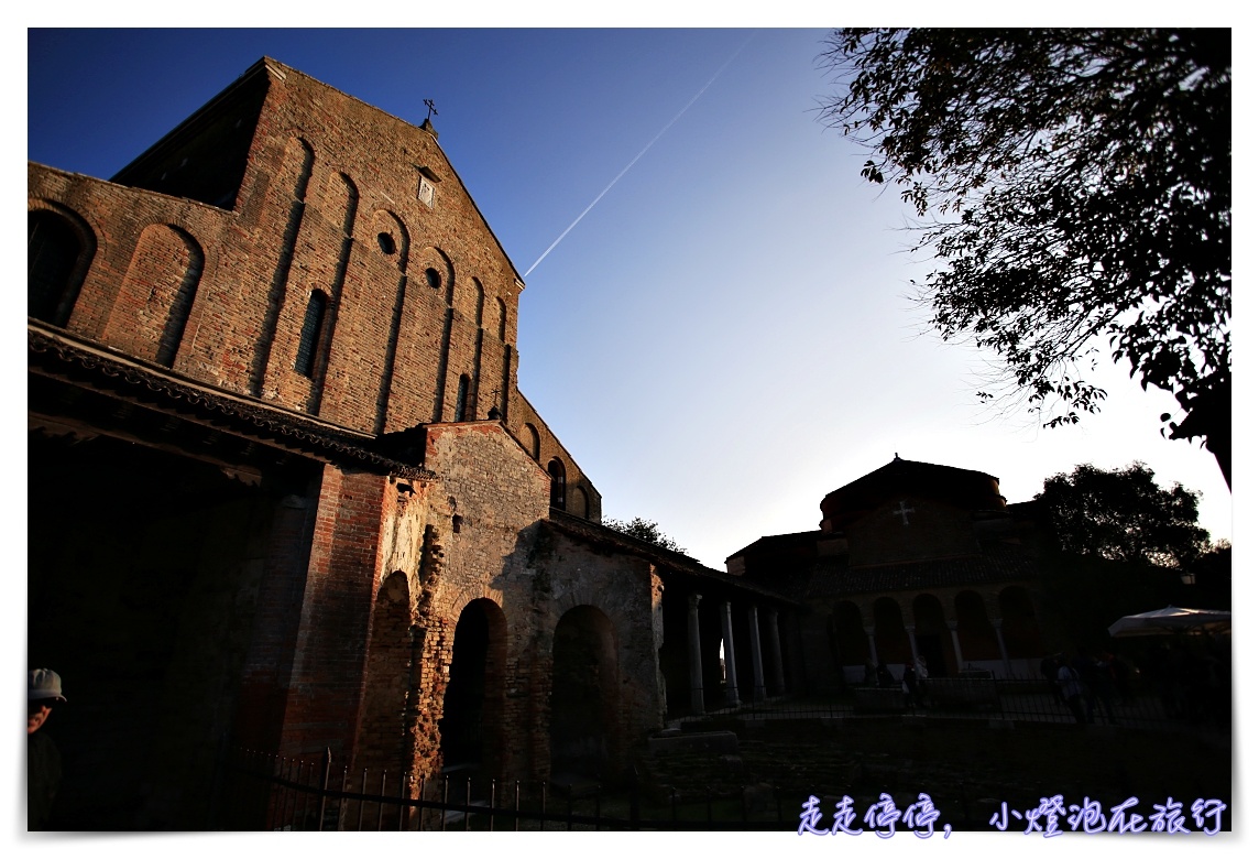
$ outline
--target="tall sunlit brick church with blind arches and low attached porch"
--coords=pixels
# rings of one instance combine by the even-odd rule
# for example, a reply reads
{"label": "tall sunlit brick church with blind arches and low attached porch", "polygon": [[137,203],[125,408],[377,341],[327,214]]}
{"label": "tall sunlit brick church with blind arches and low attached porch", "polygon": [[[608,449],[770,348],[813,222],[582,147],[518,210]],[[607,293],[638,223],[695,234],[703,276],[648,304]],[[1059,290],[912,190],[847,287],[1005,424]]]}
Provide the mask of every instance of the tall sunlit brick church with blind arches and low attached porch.
{"label": "tall sunlit brick church with blind arches and low attached porch", "polygon": [[427,120],[263,59],[108,181],[30,164],[28,210],[55,826],[210,826],[235,748],[616,778],[802,679],[796,600],[599,524]]}

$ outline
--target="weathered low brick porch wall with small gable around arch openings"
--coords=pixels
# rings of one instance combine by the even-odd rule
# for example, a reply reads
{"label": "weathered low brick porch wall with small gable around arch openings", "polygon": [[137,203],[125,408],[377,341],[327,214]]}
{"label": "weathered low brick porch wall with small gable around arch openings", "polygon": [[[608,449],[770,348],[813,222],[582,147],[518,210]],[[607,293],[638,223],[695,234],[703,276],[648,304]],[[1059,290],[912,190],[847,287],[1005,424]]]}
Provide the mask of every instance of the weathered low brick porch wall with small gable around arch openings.
{"label": "weathered low brick porch wall with small gable around arch openings", "polygon": [[[598,610],[613,629],[618,681],[609,733],[623,767],[632,739],[661,724],[660,577],[646,560],[592,550],[548,526],[549,479],[499,422],[431,427],[426,462],[439,477],[394,503],[381,534],[378,569],[387,587],[375,605],[359,759],[397,759],[397,733],[374,725],[405,708],[409,765],[417,775],[439,772],[438,722],[458,659],[454,630],[471,603],[487,601],[496,607],[490,650],[499,654],[486,669],[491,775],[549,772],[554,631],[579,606]],[[410,686],[394,676],[376,688],[374,673],[400,673],[402,650],[410,646],[398,602],[404,592],[408,622],[422,630],[407,669]]]}

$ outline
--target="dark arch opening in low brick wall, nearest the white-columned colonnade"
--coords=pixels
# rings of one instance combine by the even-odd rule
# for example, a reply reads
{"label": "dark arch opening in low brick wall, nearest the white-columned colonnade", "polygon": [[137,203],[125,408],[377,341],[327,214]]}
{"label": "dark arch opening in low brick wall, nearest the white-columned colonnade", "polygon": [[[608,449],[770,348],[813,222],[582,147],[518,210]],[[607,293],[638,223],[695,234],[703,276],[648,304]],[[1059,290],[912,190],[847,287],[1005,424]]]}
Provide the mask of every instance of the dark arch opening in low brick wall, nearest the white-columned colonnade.
{"label": "dark arch opening in low brick wall, nearest the white-columned colonnade", "polygon": [[617,646],[608,616],[593,606],[564,612],[551,665],[551,780],[602,778],[618,739]]}

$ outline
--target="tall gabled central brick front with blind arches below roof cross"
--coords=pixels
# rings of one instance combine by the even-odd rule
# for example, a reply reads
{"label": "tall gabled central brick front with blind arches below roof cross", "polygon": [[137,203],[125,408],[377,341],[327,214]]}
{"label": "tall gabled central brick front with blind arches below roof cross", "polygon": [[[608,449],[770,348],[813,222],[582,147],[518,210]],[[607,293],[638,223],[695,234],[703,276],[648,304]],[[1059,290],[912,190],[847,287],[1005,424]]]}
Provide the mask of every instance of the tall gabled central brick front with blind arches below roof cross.
{"label": "tall gabled central brick front with blind arches below roof cross", "polygon": [[[490,393],[502,389],[504,344],[516,331],[520,286],[510,261],[429,131],[293,69],[282,73],[246,170],[244,186],[257,190],[247,190],[238,207],[244,215],[254,208],[286,215],[297,184],[271,188],[263,178],[285,164],[286,150],[295,160],[302,149],[295,140],[305,141],[313,155],[310,191],[279,297],[293,312],[281,310],[277,346],[300,339],[308,295],[324,290],[335,312],[321,414],[366,431],[452,419],[466,373],[473,380],[471,411],[483,417]],[[418,199],[418,168],[437,179],[432,207]],[[259,215],[261,224],[276,220],[282,223]],[[258,241],[268,246],[274,238]],[[439,276],[433,285],[428,268]],[[392,339],[398,345],[390,356]],[[291,367],[286,360],[271,373],[283,380]],[[276,394],[283,398],[282,385]]]}

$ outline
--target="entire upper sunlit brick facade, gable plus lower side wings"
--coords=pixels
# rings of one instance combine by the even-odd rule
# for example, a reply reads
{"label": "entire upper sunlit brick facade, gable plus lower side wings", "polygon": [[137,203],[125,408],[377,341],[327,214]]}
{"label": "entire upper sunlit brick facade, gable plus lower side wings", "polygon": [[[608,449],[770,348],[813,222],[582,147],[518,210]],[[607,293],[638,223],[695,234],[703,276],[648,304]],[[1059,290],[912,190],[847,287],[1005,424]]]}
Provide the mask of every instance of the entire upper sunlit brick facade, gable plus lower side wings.
{"label": "entire upper sunlit brick facade, gable plus lower side wings", "polygon": [[[267,86],[225,94],[249,117],[266,91],[232,210],[30,165],[29,207],[94,244],[67,327],[365,432],[497,407],[517,436],[536,427],[544,469],[564,464],[567,509],[598,520],[598,491],[515,389],[524,286],[434,134],[269,60],[254,74]],[[180,146],[204,156],[175,135],[137,162],[179,164]]]}

